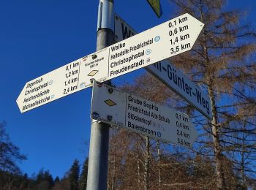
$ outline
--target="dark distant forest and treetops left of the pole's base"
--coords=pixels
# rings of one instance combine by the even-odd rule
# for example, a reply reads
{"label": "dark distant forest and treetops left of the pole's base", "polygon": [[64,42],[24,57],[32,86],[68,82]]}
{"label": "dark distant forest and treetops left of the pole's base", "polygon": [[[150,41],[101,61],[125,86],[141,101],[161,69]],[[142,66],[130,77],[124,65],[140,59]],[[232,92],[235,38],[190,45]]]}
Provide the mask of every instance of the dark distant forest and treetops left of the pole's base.
{"label": "dark distant forest and treetops left of the pole's base", "polygon": [[77,159],[63,178],[53,179],[49,170],[39,170],[37,174],[29,177],[18,168],[17,161],[26,158],[18,146],[10,141],[6,132],[6,123],[0,123],[0,189],[1,190],[46,190],[46,189],[86,189],[88,159],[81,166]]}

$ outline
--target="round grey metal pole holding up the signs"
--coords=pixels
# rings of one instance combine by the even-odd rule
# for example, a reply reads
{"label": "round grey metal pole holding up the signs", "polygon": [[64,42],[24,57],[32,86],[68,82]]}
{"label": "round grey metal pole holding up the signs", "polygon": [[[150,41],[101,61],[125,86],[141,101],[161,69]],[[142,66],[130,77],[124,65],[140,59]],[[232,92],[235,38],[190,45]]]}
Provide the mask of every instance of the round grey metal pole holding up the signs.
{"label": "round grey metal pole holding up the signs", "polygon": [[[99,0],[97,50],[113,44],[113,7],[114,0]],[[107,123],[91,121],[87,189],[107,189],[109,128]]]}

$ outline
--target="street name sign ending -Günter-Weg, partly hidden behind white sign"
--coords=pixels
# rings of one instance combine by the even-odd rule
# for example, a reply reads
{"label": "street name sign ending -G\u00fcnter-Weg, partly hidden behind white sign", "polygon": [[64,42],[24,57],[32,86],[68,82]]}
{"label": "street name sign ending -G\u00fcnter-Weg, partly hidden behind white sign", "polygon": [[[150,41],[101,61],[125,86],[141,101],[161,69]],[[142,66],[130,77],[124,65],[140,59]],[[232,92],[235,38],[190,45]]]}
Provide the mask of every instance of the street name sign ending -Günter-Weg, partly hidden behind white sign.
{"label": "street name sign ending -G\u00fcnter-Weg, partly hidden behind white sign", "polygon": [[[116,15],[115,20],[115,36],[116,42],[138,34],[134,28],[129,26],[120,16]],[[175,91],[181,97],[187,100],[192,106],[200,111],[207,118],[212,118],[211,102],[208,94],[205,94],[199,86],[193,83],[181,71],[170,63],[163,60],[155,64],[146,66],[145,69],[152,75],[162,80],[166,86]]]}

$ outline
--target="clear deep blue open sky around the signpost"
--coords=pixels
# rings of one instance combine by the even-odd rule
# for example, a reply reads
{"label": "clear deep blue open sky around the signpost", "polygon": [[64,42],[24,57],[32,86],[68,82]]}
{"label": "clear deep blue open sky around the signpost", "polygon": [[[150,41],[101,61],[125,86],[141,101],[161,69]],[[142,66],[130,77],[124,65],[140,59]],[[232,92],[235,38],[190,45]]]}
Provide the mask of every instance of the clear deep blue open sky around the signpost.
{"label": "clear deep blue open sky around the signpost", "polygon": [[[91,89],[86,88],[21,114],[16,99],[29,80],[94,53],[99,1],[1,0],[0,5],[0,121],[20,151],[28,156],[20,164],[31,175],[41,168],[62,177],[72,162],[89,153]],[[248,10],[252,23],[256,2],[233,0],[232,7]],[[146,0],[115,1],[115,11],[137,31],[171,18],[172,7],[162,0],[157,18]],[[141,71],[113,80],[122,84]]]}

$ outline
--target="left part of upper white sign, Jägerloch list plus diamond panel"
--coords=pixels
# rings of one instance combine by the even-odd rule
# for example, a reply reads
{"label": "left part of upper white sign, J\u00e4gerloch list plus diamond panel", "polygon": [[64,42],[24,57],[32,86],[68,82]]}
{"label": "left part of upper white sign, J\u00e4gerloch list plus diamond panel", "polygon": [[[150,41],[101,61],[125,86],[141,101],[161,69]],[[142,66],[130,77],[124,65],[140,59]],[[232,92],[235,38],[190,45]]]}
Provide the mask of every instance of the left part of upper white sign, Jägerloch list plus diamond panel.
{"label": "left part of upper white sign, J\u00e4gerloch list plus diamond panel", "polygon": [[[97,52],[97,55],[91,54],[80,58],[29,81],[17,99],[20,112],[26,112],[92,86],[91,78],[94,76],[97,76],[95,78],[99,81],[105,81],[105,76],[108,75],[108,70],[103,67],[106,65],[105,59],[108,59],[107,49]],[[99,66],[103,69],[99,70]]]}

